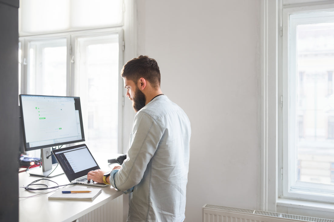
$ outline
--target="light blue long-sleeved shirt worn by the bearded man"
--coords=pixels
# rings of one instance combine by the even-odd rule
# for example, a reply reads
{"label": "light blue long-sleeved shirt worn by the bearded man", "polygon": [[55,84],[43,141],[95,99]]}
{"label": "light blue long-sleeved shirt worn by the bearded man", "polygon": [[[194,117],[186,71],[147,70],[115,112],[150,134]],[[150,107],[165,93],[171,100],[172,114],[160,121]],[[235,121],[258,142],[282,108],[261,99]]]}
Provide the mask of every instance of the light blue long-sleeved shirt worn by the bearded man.
{"label": "light blue long-sleeved shirt worn by the bearded man", "polygon": [[190,134],[187,115],[167,96],[136,113],[127,159],[110,176],[130,192],[127,221],[184,220]]}

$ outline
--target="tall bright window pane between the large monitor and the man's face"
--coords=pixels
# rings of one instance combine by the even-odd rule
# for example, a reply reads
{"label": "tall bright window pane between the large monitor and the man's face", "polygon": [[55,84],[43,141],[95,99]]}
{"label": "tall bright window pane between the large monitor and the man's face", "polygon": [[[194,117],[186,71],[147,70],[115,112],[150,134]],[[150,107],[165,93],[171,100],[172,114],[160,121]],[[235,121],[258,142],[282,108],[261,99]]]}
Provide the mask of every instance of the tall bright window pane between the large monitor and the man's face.
{"label": "tall bright window pane between the large monitor and the man's face", "polygon": [[76,75],[87,144],[118,150],[118,35],[78,38]]}

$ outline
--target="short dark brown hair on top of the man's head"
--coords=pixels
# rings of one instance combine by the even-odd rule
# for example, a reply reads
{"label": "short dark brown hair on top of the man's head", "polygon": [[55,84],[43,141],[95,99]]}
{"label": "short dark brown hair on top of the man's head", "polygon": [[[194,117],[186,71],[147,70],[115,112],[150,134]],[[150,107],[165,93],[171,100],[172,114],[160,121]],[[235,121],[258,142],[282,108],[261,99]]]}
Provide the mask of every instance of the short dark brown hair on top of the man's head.
{"label": "short dark brown hair on top of the man's head", "polygon": [[122,69],[123,78],[132,80],[137,84],[140,78],[150,82],[153,88],[160,87],[160,69],[157,61],[148,56],[138,56],[129,60]]}

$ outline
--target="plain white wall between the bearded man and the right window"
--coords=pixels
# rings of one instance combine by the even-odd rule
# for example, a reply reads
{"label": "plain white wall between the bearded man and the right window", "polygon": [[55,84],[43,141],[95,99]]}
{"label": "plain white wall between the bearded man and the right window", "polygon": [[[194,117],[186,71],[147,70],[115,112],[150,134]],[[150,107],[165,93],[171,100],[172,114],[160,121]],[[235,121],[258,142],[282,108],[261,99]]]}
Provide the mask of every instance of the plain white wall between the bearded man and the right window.
{"label": "plain white wall between the bearded man and the right window", "polygon": [[260,0],[139,0],[138,54],[188,114],[186,221],[205,203],[255,209],[259,186]]}

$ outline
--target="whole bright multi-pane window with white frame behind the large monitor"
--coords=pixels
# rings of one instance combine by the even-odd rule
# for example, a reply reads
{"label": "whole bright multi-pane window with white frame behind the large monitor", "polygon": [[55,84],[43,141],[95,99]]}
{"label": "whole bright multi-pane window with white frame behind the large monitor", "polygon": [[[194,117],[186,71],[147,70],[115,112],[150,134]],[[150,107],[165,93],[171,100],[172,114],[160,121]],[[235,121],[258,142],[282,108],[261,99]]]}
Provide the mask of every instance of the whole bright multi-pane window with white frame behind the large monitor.
{"label": "whole bright multi-pane window with white frame behind the large monitor", "polygon": [[122,0],[20,1],[19,93],[80,97],[94,152],[122,152],[122,27]]}

